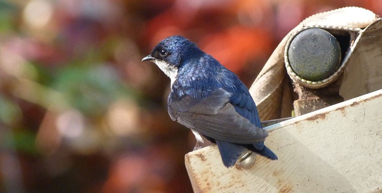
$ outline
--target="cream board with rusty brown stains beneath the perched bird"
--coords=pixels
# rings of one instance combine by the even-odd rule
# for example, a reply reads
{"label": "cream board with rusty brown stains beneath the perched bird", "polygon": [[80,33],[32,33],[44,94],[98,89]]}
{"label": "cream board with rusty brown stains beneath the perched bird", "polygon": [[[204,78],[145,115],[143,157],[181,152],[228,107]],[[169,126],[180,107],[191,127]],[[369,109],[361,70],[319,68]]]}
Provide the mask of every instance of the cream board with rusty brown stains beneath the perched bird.
{"label": "cream board with rusty brown stains beneath the perched bird", "polygon": [[380,192],[382,90],[266,127],[279,157],[225,168],[215,145],[185,155],[195,192]]}

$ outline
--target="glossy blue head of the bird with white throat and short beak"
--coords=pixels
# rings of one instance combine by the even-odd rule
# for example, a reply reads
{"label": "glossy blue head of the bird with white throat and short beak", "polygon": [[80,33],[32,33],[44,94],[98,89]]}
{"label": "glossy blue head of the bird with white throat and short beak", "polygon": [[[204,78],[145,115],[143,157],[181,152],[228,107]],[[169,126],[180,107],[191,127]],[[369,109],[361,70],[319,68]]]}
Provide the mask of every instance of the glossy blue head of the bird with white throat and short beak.
{"label": "glossy blue head of the bird with white throat and short beak", "polygon": [[182,36],[171,36],[156,45],[151,54],[144,57],[142,61],[154,62],[163,73],[170,77],[172,84],[178,75],[178,68],[182,65],[182,61],[195,50],[199,50],[195,43]]}

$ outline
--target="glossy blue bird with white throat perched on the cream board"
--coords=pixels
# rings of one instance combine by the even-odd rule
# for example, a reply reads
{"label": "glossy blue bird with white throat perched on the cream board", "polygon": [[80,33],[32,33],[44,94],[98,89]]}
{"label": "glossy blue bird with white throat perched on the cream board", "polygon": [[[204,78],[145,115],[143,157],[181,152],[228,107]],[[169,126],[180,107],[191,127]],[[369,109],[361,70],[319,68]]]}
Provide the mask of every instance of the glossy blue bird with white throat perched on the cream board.
{"label": "glossy blue bird with white throat perched on the cream board", "polygon": [[248,88],[196,43],[171,36],[142,61],[154,62],[170,77],[167,107],[171,119],[189,128],[197,143],[203,143],[203,137],[215,143],[225,167],[234,166],[244,152],[278,159],[264,145],[268,132],[261,126]]}

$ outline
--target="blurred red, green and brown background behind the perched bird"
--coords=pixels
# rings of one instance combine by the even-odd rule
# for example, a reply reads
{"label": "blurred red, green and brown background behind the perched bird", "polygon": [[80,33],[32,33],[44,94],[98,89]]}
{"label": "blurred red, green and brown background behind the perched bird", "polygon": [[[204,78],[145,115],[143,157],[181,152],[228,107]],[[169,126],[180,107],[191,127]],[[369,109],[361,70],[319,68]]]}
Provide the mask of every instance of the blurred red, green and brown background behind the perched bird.
{"label": "blurred red, green and brown background behind the perched bird", "polygon": [[193,192],[170,79],[141,62],[196,42],[250,86],[304,18],[380,0],[0,0],[0,192]]}

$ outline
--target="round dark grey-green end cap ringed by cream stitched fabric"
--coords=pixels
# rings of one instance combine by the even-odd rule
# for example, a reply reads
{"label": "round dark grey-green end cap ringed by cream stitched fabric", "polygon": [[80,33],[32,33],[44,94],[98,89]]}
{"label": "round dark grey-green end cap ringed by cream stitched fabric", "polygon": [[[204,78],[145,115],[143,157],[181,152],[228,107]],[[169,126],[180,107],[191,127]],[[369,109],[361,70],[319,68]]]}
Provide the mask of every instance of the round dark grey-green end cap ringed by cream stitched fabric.
{"label": "round dark grey-green end cap ringed by cream stitched fabric", "polygon": [[287,49],[293,72],[307,81],[325,80],[340,67],[340,45],[326,30],[305,29],[293,38]]}

